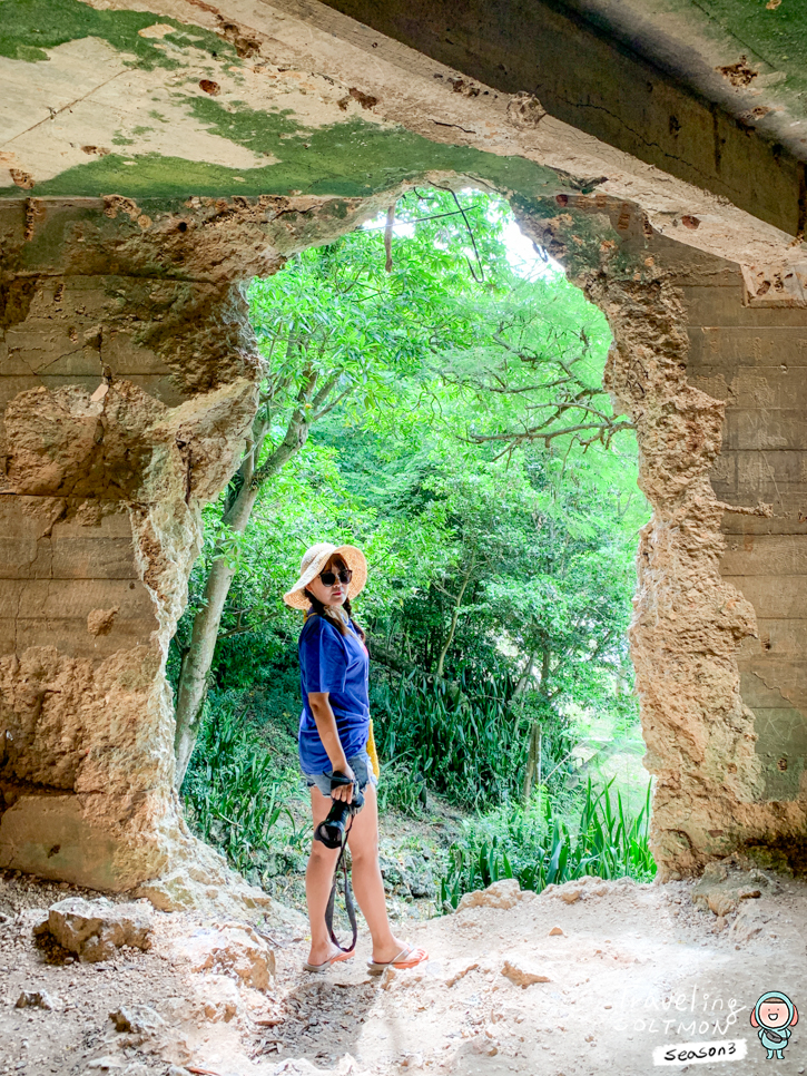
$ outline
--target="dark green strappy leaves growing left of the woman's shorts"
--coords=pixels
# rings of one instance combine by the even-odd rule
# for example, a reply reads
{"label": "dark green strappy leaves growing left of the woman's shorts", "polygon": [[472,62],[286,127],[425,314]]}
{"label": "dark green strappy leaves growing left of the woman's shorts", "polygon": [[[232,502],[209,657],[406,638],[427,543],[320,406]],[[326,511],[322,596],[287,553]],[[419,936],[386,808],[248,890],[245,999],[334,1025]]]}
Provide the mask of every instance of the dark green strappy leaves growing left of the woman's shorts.
{"label": "dark green strappy leaves growing left of the woman's shorts", "polygon": [[298,775],[278,771],[243,698],[239,692],[211,695],[183,795],[196,833],[247,874],[266,869],[273,853],[299,844],[305,832],[287,805]]}

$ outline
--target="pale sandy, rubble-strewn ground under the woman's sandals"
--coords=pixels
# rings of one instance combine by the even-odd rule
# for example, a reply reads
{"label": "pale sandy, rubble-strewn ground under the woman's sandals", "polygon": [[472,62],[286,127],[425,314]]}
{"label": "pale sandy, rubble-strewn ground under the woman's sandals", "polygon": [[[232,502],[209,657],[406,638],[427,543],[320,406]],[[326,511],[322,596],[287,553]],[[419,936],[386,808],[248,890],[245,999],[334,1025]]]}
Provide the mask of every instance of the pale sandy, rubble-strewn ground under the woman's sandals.
{"label": "pale sandy, rubble-strewn ground under the woman's sandals", "polygon": [[[266,992],[190,971],[183,947],[210,925],[186,913],[156,913],[148,952],[102,963],[35,943],[32,909],[76,892],[0,880],[2,1074],[648,1074],[657,1047],[722,1041],[735,1043],[725,1060],[671,1067],[744,1076],[807,1067],[804,1024],[784,1060],[766,1060],[749,1025],[770,990],[787,992],[807,1020],[801,881],[780,880],[725,920],[693,907],[688,882],[589,880],[520,899],[488,891],[483,900],[511,907],[413,921],[411,940],[430,962],[381,979],[365,971],[366,937],[352,961],[309,976],[304,931],[267,928],[277,974]],[[52,1008],[16,1008],[23,990],[45,990]],[[121,1005],[148,1006],[155,1026],[117,1031],[109,1014]]]}

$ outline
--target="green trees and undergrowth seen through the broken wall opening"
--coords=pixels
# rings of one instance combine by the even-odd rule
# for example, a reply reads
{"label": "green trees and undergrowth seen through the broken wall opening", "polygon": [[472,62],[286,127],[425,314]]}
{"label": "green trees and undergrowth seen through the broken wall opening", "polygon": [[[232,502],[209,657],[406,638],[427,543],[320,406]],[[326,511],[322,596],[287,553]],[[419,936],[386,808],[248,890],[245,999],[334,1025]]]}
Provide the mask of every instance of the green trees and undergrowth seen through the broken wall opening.
{"label": "green trees and undergrowth seen through the broken wall opening", "polygon": [[355,614],[382,812],[423,819],[439,802],[466,819],[437,907],[500,877],[540,889],[655,870],[638,763],[619,795],[608,783],[609,757],[640,750],[636,441],[601,388],[604,317],[539,252],[513,265],[512,227],[499,198],[414,192],[394,231],[371,222],[252,285],[266,452],[312,370],[329,394],[244,535],[222,525],[233,488],[206,510],[169,675],[224,548],[236,571],[183,791],[191,823],[253,881],[298,871],[311,838],[302,617],[281,596],[323,540],[370,563]]}

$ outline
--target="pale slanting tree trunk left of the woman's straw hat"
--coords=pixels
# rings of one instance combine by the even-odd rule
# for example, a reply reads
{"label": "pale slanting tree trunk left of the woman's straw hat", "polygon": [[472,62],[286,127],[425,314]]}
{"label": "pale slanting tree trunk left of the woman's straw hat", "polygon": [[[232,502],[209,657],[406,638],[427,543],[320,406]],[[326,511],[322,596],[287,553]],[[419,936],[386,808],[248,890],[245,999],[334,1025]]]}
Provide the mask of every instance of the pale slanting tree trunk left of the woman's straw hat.
{"label": "pale slanting tree trunk left of the woman's straw hat", "polygon": [[[312,372],[301,389],[286,436],[258,470],[253,470],[253,461],[260,451],[263,438],[257,439],[253,451],[242,463],[242,487],[224,516],[224,522],[234,534],[239,535],[246,530],[260,488],[281,470],[284,463],[301,451],[308,439],[311,423],[306,415],[306,405],[311,401],[316,380],[316,374]],[[181,788],[196,746],[218,628],[234,575],[235,569],[227,564],[226,558],[214,555],[210,574],[205,584],[204,604],[194,617],[190,645],[179,673],[174,734],[177,789]]]}

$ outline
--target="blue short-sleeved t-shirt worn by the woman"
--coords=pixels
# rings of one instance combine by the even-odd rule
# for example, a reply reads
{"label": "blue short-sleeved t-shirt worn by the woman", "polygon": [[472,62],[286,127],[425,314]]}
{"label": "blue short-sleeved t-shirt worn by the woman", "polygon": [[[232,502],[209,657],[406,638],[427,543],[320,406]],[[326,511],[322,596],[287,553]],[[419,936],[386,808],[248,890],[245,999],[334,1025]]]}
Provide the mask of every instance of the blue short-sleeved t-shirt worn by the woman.
{"label": "blue short-sleeved t-shirt worn by the woman", "polygon": [[303,625],[298,649],[303,692],[299,764],[303,773],[331,773],[333,766],[308,705],[308,692],[329,693],[345,757],[357,755],[366,747],[370,735],[367,651],[354,630],[342,635],[334,624],[316,615]]}

